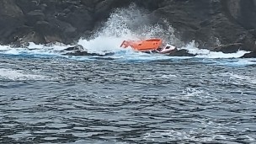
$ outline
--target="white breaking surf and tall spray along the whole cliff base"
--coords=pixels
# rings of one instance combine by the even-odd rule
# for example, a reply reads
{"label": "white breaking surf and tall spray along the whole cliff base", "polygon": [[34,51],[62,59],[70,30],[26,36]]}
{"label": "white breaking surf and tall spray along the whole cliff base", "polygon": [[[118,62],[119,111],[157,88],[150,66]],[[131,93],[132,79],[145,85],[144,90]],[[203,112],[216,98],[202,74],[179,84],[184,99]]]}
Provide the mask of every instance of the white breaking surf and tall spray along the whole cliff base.
{"label": "white breaking surf and tall spray along the whole cliff base", "polygon": [[[76,45],[83,46],[83,51],[99,54],[100,59],[111,59],[115,61],[154,61],[154,60],[172,60],[172,59],[191,59],[198,61],[216,61],[217,65],[248,66],[256,64],[253,59],[239,59],[249,51],[238,51],[237,53],[224,54],[222,52],[213,52],[205,49],[198,49],[194,41],[184,44],[174,35],[174,29],[167,21],[163,19],[162,24],[151,25],[151,19],[148,18],[146,10],[136,8],[131,5],[129,8],[118,8],[112,13],[104,26],[99,29],[88,40],[81,38]],[[163,29],[164,27],[164,29]],[[123,40],[145,40],[150,38],[160,38],[171,45],[178,46],[178,50],[184,49],[190,54],[196,56],[163,56],[152,55],[132,51],[132,49],[122,49],[120,44]],[[216,44],[219,42],[216,40]],[[79,61],[99,60],[99,56],[65,56],[68,47],[76,45],[35,45],[33,42],[23,48],[15,48],[11,45],[0,45],[0,54],[2,56],[29,56],[29,57],[52,57],[68,58]],[[221,45],[221,44],[218,44]],[[70,51],[68,51],[70,52]],[[102,56],[111,53],[111,55]],[[224,59],[228,59],[228,62]],[[233,61],[231,61],[231,59]]]}

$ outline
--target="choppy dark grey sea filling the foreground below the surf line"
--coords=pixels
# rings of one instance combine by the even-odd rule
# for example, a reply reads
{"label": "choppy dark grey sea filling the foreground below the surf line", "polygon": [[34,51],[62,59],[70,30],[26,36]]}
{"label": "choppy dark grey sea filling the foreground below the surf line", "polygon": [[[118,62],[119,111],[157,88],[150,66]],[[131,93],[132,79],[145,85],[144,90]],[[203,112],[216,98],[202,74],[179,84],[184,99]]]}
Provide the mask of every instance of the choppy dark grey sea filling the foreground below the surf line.
{"label": "choppy dark grey sea filling the foreground below the surf line", "polygon": [[1,57],[1,143],[256,143],[256,67]]}

